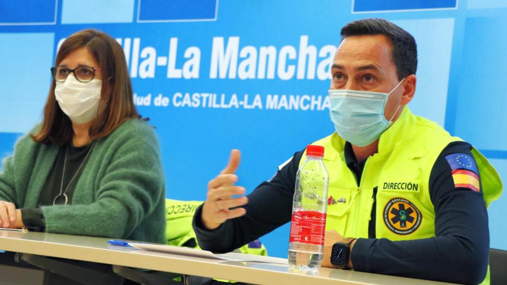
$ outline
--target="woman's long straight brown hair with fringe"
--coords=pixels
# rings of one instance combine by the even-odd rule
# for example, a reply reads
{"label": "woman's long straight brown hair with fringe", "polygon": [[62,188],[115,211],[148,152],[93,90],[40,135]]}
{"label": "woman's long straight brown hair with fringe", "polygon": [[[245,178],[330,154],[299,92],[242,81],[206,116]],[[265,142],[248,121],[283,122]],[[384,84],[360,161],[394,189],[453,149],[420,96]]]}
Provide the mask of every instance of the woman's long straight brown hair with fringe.
{"label": "woman's long straight brown hair with fringe", "polygon": [[[132,98],[132,85],[127,62],[121,46],[104,32],[86,29],[68,37],[61,45],[55,59],[55,66],[71,52],[87,48],[102,73],[102,90],[97,116],[89,130],[90,140],[96,140],[112,133],[130,118],[140,116]],[[31,135],[35,142],[43,144],[65,144],[73,138],[70,119],[63,113],[55,99],[55,81],[49,90],[44,107],[44,120],[37,134]]]}

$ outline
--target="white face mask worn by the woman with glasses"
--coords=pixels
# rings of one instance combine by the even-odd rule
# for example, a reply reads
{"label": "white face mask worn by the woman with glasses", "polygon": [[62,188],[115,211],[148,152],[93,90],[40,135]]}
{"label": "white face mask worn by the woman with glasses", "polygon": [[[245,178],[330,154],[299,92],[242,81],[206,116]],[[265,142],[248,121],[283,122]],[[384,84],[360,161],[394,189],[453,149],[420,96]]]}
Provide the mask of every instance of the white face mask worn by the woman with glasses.
{"label": "white face mask worn by the woman with glasses", "polygon": [[61,110],[71,121],[84,124],[95,119],[100,101],[102,80],[79,82],[69,75],[64,82],[56,82],[55,97]]}

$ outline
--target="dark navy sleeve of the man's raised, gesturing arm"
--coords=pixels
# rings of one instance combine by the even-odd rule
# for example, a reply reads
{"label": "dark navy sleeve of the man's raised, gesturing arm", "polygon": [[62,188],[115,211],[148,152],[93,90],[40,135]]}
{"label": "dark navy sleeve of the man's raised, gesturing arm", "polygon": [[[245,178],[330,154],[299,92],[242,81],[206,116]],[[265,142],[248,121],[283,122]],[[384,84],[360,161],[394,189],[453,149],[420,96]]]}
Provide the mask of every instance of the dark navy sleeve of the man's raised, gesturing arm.
{"label": "dark navy sleeve of the man's raised, gesturing arm", "polygon": [[243,217],[228,220],[209,231],[201,220],[201,205],[193,220],[199,246],[215,253],[230,252],[290,222],[296,173],[302,156],[303,151],[295,153],[270,181],[263,182],[247,195]]}

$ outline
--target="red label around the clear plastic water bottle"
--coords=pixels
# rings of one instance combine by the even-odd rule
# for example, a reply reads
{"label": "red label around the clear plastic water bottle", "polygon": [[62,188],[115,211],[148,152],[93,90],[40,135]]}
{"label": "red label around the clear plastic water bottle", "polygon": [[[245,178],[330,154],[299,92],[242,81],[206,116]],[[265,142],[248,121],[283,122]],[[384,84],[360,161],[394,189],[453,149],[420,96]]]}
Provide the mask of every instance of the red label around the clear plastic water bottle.
{"label": "red label around the clear plastic water bottle", "polygon": [[326,213],[297,211],[292,216],[289,242],[324,244]]}

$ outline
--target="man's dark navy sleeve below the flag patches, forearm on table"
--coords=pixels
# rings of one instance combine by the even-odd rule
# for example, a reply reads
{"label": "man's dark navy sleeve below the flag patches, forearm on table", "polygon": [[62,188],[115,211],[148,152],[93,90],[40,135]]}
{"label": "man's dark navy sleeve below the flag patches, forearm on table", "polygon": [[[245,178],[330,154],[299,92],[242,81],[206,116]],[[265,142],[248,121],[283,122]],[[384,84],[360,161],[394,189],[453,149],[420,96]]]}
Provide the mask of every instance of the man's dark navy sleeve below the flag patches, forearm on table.
{"label": "man's dark navy sleeve below the flag patches, forearm on table", "polygon": [[429,177],[435,237],[391,241],[360,238],[351,258],[354,270],[453,283],[478,284],[488,266],[488,213],[482,191],[456,188],[445,156],[472,156],[472,146],[453,142],[440,154]]}

